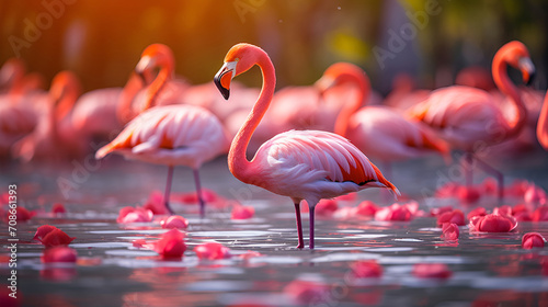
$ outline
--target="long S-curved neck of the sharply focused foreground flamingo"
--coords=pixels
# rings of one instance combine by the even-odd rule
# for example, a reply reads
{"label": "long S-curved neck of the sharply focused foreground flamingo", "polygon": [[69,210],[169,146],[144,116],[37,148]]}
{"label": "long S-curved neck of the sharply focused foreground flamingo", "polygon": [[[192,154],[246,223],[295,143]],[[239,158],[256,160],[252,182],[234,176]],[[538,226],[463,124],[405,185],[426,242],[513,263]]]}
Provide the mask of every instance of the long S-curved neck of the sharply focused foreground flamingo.
{"label": "long S-curved neck of the sharply focused foreground flamingo", "polygon": [[249,161],[246,157],[246,151],[248,150],[248,145],[253,132],[256,126],[259,126],[264,113],[266,113],[266,110],[269,109],[272,96],[274,95],[274,89],[276,87],[274,65],[272,65],[269,55],[266,55],[266,53],[262,49],[255,49],[255,53],[258,57],[255,64],[261,68],[263,86],[255,104],[246,118],[246,122],[238,130],[238,134],[232,140],[228,152],[228,168],[230,172],[237,179],[246,183],[250,183],[250,181],[252,181],[253,174],[249,171],[254,160],[253,158],[253,160]]}

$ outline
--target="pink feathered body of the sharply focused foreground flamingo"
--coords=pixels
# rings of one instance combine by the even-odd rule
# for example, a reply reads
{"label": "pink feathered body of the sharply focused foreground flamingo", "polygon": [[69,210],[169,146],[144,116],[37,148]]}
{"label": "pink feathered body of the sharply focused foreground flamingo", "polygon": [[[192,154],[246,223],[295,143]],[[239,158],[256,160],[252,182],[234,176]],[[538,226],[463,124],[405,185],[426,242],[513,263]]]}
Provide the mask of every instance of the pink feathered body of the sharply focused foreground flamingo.
{"label": "pink feathered body of the sharply focused foreground flamingo", "polygon": [[281,195],[323,198],[368,186],[399,193],[359,149],[332,133],[278,134],[261,146],[252,164],[259,174],[254,184]]}

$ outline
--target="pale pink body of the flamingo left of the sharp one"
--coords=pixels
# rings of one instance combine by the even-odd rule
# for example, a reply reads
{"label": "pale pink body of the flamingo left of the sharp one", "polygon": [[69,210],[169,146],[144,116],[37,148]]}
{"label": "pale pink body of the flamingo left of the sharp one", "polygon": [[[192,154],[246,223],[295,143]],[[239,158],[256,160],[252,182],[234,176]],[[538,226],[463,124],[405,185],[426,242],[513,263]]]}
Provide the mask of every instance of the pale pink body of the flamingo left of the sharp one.
{"label": "pale pink body of the flamingo left of the sharp one", "polygon": [[113,141],[98,150],[95,158],[117,152],[132,160],[197,169],[227,149],[224,127],[208,111],[167,105],[135,117]]}

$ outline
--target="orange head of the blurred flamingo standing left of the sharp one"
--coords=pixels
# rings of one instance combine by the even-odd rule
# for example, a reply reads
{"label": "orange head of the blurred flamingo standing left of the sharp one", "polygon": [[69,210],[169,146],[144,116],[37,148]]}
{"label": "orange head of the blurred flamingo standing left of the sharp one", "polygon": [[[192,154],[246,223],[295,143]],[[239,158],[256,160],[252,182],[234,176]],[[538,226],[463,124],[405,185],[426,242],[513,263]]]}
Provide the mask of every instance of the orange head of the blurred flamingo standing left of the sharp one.
{"label": "orange head of the blurred flamingo standing left of the sharp one", "polygon": [[153,69],[160,67],[173,73],[174,62],[175,59],[170,47],[163,44],[152,44],[142,52],[139,62],[135,66],[135,72],[145,84],[148,84]]}

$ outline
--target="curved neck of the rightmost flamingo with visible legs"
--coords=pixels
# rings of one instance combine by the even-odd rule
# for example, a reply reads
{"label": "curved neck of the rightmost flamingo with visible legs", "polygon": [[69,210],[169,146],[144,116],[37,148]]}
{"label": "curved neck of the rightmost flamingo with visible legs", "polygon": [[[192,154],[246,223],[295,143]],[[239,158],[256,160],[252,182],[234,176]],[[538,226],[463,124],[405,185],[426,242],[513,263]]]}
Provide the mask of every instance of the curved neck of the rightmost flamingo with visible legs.
{"label": "curved neck of the rightmost flamingo with visible legs", "polygon": [[504,58],[505,55],[506,53],[501,53],[501,52],[494,55],[492,73],[496,88],[512,100],[514,106],[517,110],[516,117],[512,118],[507,123],[510,129],[506,132],[506,137],[512,137],[518,134],[522,127],[525,125],[525,121],[527,117],[527,110],[522,101],[517,88],[509,78],[506,70],[507,60]]}

